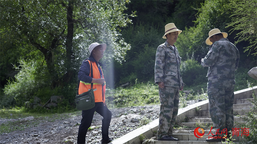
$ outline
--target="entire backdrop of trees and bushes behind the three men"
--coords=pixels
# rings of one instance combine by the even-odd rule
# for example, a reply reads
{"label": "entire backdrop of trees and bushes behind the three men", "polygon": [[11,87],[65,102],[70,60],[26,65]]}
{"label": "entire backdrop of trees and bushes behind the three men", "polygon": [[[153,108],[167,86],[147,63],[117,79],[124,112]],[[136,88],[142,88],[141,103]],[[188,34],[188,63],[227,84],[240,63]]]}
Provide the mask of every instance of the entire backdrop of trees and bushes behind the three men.
{"label": "entire backdrop of trees and bushes behind the three men", "polygon": [[[247,88],[246,80],[256,85],[247,75],[256,67],[256,56],[252,55],[256,53],[255,7],[256,0],[3,0],[1,107],[23,106],[34,96],[45,103],[54,94],[64,96],[63,106],[72,109],[79,66],[88,57],[87,47],[95,41],[107,44],[100,61],[110,91],[117,88],[123,93],[126,90],[119,86],[133,87],[135,80],[154,83],[156,49],[165,42],[164,26],[170,22],[182,30],[175,46],[182,57],[186,90],[206,89],[207,69],[199,61],[208,52],[205,39],[213,28],[229,33],[229,41],[236,42],[240,51],[235,89]],[[239,20],[247,22],[237,23]],[[114,97],[110,101],[132,98],[119,93]]]}

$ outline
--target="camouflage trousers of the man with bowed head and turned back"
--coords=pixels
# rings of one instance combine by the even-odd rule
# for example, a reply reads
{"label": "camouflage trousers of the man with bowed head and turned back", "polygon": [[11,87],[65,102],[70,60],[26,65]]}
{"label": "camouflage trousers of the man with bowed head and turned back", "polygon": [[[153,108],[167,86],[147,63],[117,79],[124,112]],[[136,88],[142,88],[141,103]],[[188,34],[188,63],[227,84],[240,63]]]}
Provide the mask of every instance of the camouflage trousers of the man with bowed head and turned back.
{"label": "camouflage trousers of the man with bowed head and turned back", "polygon": [[[216,132],[227,132],[234,126],[234,87],[210,88],[207,90],[209,97],[209,111]],[[218,130],[219,129],[219,130]]]}

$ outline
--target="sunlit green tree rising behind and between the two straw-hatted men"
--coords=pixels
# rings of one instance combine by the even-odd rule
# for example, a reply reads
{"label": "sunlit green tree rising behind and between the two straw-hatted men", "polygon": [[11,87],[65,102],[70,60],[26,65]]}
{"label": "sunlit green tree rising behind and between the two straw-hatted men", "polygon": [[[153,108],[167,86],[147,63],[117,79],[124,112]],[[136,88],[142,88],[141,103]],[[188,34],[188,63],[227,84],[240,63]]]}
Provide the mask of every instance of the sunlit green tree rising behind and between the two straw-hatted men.
{"label": "sunlit green tree rising behind and between the two straw-hatted men", "polygon": [[194,21],[196,27],[191,28],[193,29],[193,35],[191,35],[191,39],[189,40],[189,43],[191,43],[190,49],[194,52],[194,58],[197,61],[201,60],[209,50],[209,46],[206,45],[205,40],[208,38],[210,30],[218,28],[221,31],[229,31],[225,29],[226,23],[231,20],[229,16],[232,14],[232,11],[226,7],[228,3],[229,1],[226,0],[209,0],[202,3],[201,8],[197,9],[197,18]]}

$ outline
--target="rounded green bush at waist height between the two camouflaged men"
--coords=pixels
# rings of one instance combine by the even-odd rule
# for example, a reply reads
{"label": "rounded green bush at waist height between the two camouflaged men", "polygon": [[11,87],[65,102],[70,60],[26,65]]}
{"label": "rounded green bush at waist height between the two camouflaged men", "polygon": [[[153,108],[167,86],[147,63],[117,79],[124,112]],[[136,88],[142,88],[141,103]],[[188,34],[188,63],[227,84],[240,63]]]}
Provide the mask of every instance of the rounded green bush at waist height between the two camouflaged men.
{"label": "rounded green bush at waist height between the two camouflaged men", "polygon": [[186,86],[197,85],[208,81],[207,68],[203,68],[196,60],[188,59],[180,66],[183,82]]}

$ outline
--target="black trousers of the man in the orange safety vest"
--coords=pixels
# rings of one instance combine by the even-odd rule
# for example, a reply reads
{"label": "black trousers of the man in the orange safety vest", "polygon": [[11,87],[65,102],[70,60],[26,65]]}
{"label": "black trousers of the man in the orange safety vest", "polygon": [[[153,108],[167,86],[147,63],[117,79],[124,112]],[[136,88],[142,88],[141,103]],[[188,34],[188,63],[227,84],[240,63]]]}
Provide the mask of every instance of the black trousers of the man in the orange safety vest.
{"label": "black trousers of the man in the orange safety vest", "polygon": [[106,106],[104,106],[103,102],[98,102],[98,103],[95,103],[95,107],[93,107],[92,109],[82,111],[82,119],[81,119],[81,124],[79,125],[79,132],[78,132],[78,139],[77,139],[78,144],[85,143],[87,130],[91,126],[95,111],[103,117],[102,139],[103,140],[109,139],[108,129],[111,123],[111,111]]}

